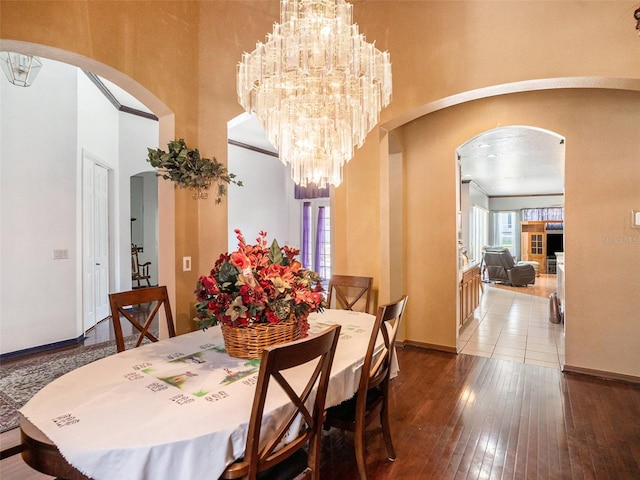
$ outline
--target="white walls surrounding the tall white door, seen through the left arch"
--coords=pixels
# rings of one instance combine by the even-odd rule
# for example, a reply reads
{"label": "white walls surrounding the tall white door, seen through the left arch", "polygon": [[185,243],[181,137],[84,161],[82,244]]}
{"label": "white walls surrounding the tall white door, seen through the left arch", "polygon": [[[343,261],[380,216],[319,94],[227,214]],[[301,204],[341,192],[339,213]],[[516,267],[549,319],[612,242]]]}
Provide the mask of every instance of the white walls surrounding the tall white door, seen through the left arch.
{"label": "white walls surrounding the tall white door, seen through the left arch", "polygon": [[[83,334],[83,149],[113,169],[117,212],[122,204],[128,209],[129,175],[148,170],[146,147],[158,144],[157,122],[139,119],[146,122],[141,132],[141,123],[118,113],[84,73],[42,61],[31,87],[16,87],[0,75],[1,354]],[[127,168],[119,167],[119,158]],[[126,244],[126,261],[115,263],[112,283],[126,285],[122,279],[128,279],[130,285],[128,215],[112,222],[112,238]],[[69,258],[54,260],[56,249],[67,250]]]}

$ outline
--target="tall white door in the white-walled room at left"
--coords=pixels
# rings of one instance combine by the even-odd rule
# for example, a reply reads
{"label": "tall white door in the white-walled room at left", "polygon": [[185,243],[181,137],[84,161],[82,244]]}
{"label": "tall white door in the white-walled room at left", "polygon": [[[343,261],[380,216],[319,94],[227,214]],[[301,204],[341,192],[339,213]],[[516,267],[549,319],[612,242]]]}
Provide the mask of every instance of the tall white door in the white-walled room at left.
{"label": "tall white door in the white-walled room at left", "polygon": [[109,172],[83,153],[84,331],[109,315]]}

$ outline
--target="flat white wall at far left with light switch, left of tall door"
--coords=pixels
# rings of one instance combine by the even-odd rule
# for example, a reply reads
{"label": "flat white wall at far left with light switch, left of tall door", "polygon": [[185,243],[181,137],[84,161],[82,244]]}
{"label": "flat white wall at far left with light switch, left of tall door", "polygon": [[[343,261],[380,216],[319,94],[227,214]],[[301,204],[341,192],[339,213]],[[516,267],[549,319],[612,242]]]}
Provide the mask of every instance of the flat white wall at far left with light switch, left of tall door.
{"label": "flat white wall at far left with light switch, left of tall door", "polygon": [[43,64],[27,88],[0,75],[2,353],[78,336],[77,77]]}

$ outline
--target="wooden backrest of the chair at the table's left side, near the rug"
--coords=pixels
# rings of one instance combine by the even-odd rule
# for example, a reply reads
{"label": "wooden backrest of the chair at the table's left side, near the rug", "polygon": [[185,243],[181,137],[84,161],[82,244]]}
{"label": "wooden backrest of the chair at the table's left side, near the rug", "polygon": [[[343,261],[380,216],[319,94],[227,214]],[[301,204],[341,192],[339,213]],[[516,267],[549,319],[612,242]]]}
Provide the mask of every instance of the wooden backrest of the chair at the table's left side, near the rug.
{"label": "wooden backrest of the chair at the table's left side, near the rug", "polygon": [[[140,308],[143,304],[149,305],[146,308]],[[109,305],[111,306],[111,319],[113,320],[113,329],[116,334],[118,352],[123,352],[126,349],[122,324],[120,323],[121,317],[126,318],[138,331],[139,335],[135,346],[139,347],[145,338],[152,342],[158,341],[158,338],[149,331],[149,328],[160,308],[164,307],[169,336],[176,336],[169,295],[165,286],[111,293],[109,294]]]}

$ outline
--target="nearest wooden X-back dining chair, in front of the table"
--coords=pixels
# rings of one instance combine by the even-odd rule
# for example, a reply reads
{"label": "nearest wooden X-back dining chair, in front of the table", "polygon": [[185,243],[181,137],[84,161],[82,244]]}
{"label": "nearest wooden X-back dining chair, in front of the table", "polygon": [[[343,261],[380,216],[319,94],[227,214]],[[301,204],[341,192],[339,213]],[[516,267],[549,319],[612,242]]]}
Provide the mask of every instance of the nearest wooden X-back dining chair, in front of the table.
{"label": "nearest wooden X-back dining chair, in front of the table", "polygon": [[[229,465],[221,478],[245,478],[253,480],[258,473],[265,472],[265,478],[280,478],[275,470],[287,467],[285,460],[309,445],[306,466],[296,479],[320,478],[320,450],[324,404],[329,384],[331,365],[335,354],[340,325],[334,325],[319,335],[290,343],[268,347],[262,353],[258,384],[253,400],[245,455],[242,460]],[[315,362],[315,369],[300,393],[286,379],[286,370],[308,362]],[[273,382],[271,380],[274,380]],[[276,385],[277,384],[277,385]],[[272,426],[274,433],[261,439],[262,417],[267,394],[271,390],[284,390],[291,400],[291,411]],[[315,394],[315,398],[313,395]],[[284,446],[290,437],[293,422],[302,419],[297,436]],[[268,472],[267,472],[268,470]],[[297,473],[297,472],[296,472]],[[287,475],[286,478],[293,478]]]}

